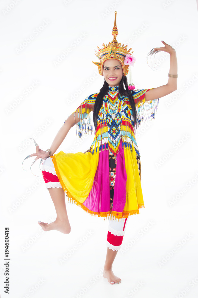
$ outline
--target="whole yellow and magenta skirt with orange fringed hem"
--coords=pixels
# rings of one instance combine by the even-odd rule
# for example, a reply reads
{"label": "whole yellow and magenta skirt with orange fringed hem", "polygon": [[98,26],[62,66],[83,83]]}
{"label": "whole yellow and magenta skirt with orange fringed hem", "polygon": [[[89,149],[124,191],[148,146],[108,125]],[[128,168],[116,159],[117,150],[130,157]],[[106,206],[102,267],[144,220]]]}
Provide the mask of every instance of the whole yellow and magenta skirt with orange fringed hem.
{"label": "whole yellow and magenta skirt with orange fringed hem", "polygon": [[64,153],[51,156],[58,179],[70,202],[94,216],[127,218],[144,208],[140,158],[132,147],[116,156],[113,208],[110,210],[109,150]]}

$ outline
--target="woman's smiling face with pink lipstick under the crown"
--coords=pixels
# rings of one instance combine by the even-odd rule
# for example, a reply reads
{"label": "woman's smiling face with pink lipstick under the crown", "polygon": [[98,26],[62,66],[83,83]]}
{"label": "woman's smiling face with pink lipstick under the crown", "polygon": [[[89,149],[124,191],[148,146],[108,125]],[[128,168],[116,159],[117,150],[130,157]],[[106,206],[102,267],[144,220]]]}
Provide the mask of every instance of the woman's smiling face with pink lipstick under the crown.
{"label": "woman's smiling face with pink lipstick under the crown", "polygon": [[119,86],[123,76],[123,70],[120,61],[108,59],[103,65],[103,76],[110,87]]}

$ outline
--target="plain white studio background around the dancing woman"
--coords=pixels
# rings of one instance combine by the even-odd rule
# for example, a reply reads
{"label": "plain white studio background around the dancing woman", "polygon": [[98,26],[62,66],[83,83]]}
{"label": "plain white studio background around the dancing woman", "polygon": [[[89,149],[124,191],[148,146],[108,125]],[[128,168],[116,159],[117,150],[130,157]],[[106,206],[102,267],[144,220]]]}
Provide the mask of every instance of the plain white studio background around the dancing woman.
{"label": "plain white studio background around the dancing woman", "polygon": [[[136,89],[167,83],[169,57],[156,56],[161,71],[152,71],[146,63],[147,53],[162,46],[161,40],[176,49],[179,77],[177,91],[160,99],[155,120],[143,123],[136,135],[145,208],[129,218],[123,251],[113,264],[122,282],[112,286],[100,275],[108,222],[66,198],[71,233],[43,232],[38,221],[53,221],[56,213],[43,179],[21,168],[23,159],[35,152],[28,140],[21,142],[35,135],[41,149],[50,148],[66,118],[102,87],[104,78],[91,61],[98,61],[97,46],[112,40],[114,10],[117,40],[132,47],[137,59],[132,69]],[[196,1],[1,0],[0,14],[1,297],[197,297]],[[82,33],[85,38],[79,39]],[[33,39],[17,50],[30,35]],[[68,48],[71,52],[55,66]],[[26,96],[34,81],[38,86]],[[79,140],[72,128],[57,152],[85,152],[93,136],[81,144]],[[27,160],[27,167],[32,160]],[[40,176],[38,164],[33,172]],[[9,295],[3,288],[4,227],[10,228]],[[74,246],[76,251],[69,254]],[[61,265],[64,254],[71,256]]]}

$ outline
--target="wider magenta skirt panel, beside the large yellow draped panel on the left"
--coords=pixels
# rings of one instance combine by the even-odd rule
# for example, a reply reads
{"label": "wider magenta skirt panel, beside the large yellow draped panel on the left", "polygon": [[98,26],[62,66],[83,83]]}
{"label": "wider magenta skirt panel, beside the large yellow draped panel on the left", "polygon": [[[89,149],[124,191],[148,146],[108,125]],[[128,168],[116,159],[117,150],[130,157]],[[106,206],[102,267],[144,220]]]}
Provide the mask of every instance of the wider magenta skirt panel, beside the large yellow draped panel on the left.
{"label": "wider magenta skirt panel, beside the large yellow draped panel on the left", "polygon": [[108,212],[110,209],[109,150],[99,152],[93,186],[83,205],[93,212]]}

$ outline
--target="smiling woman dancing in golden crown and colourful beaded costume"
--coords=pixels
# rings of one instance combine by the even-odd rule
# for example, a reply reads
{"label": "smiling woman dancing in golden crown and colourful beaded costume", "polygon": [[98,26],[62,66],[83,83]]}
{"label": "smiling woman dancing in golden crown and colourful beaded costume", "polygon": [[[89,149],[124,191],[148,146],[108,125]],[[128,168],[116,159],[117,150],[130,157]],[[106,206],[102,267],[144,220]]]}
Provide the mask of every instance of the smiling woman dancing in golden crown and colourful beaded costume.
{"label": "smiling woman dancing in golden crown and colourful beaded costume", "polygon": [[[89,214],[109,218],[103,276],[109,283],[118,284],[121,279],[113,274],[112,264],[120,249],[128,216],[144,208],[140,154],[134,128],[141,121],[154,118],[158,98],[177,89],[177,58],[175,50],[162,41],[164,46],[154,51],[170,54],[167,84],[130,91],[126,75],[134,59],[131,49],[127,51],[127,46],[121,46],[116,40],[116,12],[112,34],[113,41],[103,44],[96,52],[100,63],[93,62],[105,79],[100,92],[88,96],[67,118],[50,149],[43,151],[37,145],[36,153],[30,156],[36,156],[35,160],[45,159],[43,178],[57,213],[56,220],[50,224],[38,222],[42,229],[70,232],[64,192],[70,201]],[[95,134],[90,149],[85,153],[60,151],[54,154],[74,125],[79,137]]]}

